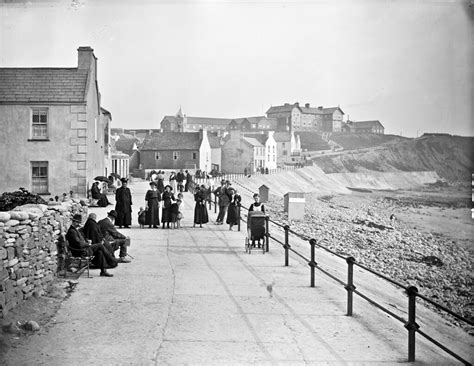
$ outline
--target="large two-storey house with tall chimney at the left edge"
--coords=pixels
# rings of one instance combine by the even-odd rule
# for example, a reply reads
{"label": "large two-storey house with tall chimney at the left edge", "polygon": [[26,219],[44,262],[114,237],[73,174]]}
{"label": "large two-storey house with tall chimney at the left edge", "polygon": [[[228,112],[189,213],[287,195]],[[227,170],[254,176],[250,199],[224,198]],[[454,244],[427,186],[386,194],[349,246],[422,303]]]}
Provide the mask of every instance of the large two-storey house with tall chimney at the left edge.
{"label": "large two-storey house with tall chimney at the left edge", "polygon": [[1,189],[85,195],[110,173],[110,121],[90,47],[78,48],[77,67],[0,68]]}

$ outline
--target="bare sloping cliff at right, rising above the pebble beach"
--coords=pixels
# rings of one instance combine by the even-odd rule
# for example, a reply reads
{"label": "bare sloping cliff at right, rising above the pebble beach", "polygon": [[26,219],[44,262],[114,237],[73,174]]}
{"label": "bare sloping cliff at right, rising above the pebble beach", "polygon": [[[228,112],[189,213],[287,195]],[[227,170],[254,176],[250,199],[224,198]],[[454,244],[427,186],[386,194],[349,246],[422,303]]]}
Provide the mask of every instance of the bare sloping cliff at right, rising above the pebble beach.
{"label": "bare sloping cliff at right, rising above the pebble beach", "polygon": [[362,151],[318,156],[313,162],[325,173],[435,171],[451,182],[469,181],[473,140],[449,135],[423,136],[371,149],[361,146]]}

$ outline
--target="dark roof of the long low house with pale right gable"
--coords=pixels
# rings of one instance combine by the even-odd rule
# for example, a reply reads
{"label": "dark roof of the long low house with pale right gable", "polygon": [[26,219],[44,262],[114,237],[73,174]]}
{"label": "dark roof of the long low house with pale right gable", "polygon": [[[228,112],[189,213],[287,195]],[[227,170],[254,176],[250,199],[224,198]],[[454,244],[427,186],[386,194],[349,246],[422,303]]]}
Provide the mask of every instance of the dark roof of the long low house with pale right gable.
{"label": "dark roof of the long low house with pale right gable", "polygon": [[148,136],[141,150],[199,150],[200,146],[199,132],[160,132]]}

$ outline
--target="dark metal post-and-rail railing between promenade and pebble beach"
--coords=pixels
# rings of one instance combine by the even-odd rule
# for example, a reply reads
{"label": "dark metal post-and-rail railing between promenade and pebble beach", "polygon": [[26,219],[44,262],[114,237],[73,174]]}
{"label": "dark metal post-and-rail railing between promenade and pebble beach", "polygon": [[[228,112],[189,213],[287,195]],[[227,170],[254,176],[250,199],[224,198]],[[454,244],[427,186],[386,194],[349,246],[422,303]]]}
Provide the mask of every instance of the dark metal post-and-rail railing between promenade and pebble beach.
{"label": "dark metal post-and-rail railing between promenade and pebble beach", "polygon": [[[241,215],[241,208],[244,208],[247,211],[248,211],[248,208],[246,208],[244,206],[240,206],[240,205],[238,207],[238,217],[240,218],[240,220],[246,222],[246,220]],[[239,224],[238,224],[238,230],[239,231],[240,231],[240,220],[239,220]],[[276,236],[274,236],[270,233],[270,231],[269,231],[269,224],[270,223],[283,229],[283,231],[284,231],[284,241],[278,239]],[[293,249],[293,247],[290,245],[290,234],[298,237],[299,239],[302,239],[303,241],[309,242],[309,244],[310,244],[310,258],[306,257],[305,255],[303,255],[303,254],[299,253],[298,251],[296,251],[295,249]],[[304,261],[306,261],[306,263],[310,267],[310,287],[315,287],[315,270],[316,269],[318,269],[320,272],[324,273],[326,276],[328,276],[331,279],[333,279],[334,281],[336,281],[338,284],[344,286],[344,288],[347,291],[347,315],[348,316],[352,316],[352,314],[353,314],[353,296],[354,296],[354,294],[356,294],[359,297],[361,297],[362,299],[366,300],[371,305],[377,307],[378,309],[380,309],[384,313],[390,315],[392,318],[394,318],[394,319],[398,320],[399,322],[403,323],[404,327],[408,330],[408,362],[414,362],[415,361],[415,350],[416,350],[416,348],[415,348],[415,346],[416,346],[415,335],[416,335],[416,333],[419,333],[421,336],[423,336],[429,342],[431,342],[434,345],[436,345],[437,347],[441,348],[443,351],[445,351],[446,353],[448,353],[449,355],[451,355],[452,357],[454,357],[458,361],[462,362],[464,365],[471,365],[471,363],[469,361],[465,360],[464,358],[462,358],[461,356],[456,354],[454,351],[450,350],[448,347],[444,346],[442,343],[435,340],[434,338],[432,338],[431,336],[429,336],[428,334],[426,334],[425,332],[423,332],[420,329],[420,325],[416,323],[416,298],[418,297],[420,299],[423,299],[424,301],[428,302],[429,304],[433,305],[434,307],[438,308],[439,310],[442,310],[442,311],[448,313],[449,315],[453,316],[457,320],[463,321],[466,324],[469,324],[469,325],[473,326],[474,323],[471,320],[466,319],[463,316],[461,316],[459,314],[456,314],[455,312],[451,311],[450,309],[444,307],[443,305],[440,305],[440,304],[434,302],[430,298],[428,298],[428,297],[426,297],[422,294],[419,294],[418,289],[416,287],[414,287],[414,286],[405,286],[405,285],[403,285],[403,284],[401,284],[397,281],[394,281],[393,279],[391,279],[391,278],[389,278],[389,277],[387,277],[387,276],[385,276],[385,275],[383,275],[379,272],[376,272],[376,271],[370,269],[369,267],[367,267],[367,266],[365,266],[361,263],[358,263],[354,257],[345,257],[345,256],[343,256],[339,253],[336,253],[336,252],[332,251],[331,249],[319,244],[316,239],[310,238],[306,235],[295,232],[295,231],[290,229],[289,225],[281,224],[279,222],[273,221],[269,218],[269,216],[266,216],[265,238],[266,238],[266,240],[265,240],[266,241],[266,243],[265,243],[266,244],[265,252],[269,251],[270,238],[273,239],[273,241],[275,241],[276,243],[280,244],[283,247],[283,249],[285,250],[285,266],[289,266],[289,253],[290,252],[295,254],[299,258],[303,259]],[[316,255],[315,255],[315,248],[316,247],[318,247],[318,248],[320,248],[320,249],[336,256],[337,258],[339,258],[341,260],[344,260],[347,263],[347,281],[346,282],[339,279],[339,278],[337,278],[336,276],[329,273],[327,270],[321,268],[321,266],[318,265],[318,263],[316,262]],[[362,292],[358,291],[357,287],[354,285],[354,266],[357,266],[361,269],[364,269],[365,271],[367,271],[367,272],[369,272],[369,273],[371,273],[371,274],[373,274],[373,275],[375,275],[379,278],[382,278],[382,279],[390,282],[391,284],[393,284],[397,287],[400,287],[400,288],[404,289],[405,293],[408,296],[408,319],[403,319],[402,317],[400,317],[397,314],[393,313],[389,309],[387,309],[384,306],[377,303],[375,300],[372,300],[369,296],[367,296],[367,295],[363,294]]]}

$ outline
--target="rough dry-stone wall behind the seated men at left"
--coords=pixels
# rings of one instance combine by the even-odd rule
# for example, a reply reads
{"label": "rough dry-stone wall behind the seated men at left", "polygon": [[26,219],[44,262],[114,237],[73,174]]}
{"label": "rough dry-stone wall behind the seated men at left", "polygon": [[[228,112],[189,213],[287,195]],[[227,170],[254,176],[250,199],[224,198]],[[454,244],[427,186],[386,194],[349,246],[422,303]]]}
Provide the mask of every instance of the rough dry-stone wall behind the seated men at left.
{"label": "rough dry-stone wall behind the seated men at left", "polygon": [[86,211],[73,200],[0,212],[0,318],[53,281],[60,230],[69,227],[73,214]]}

